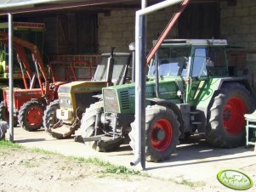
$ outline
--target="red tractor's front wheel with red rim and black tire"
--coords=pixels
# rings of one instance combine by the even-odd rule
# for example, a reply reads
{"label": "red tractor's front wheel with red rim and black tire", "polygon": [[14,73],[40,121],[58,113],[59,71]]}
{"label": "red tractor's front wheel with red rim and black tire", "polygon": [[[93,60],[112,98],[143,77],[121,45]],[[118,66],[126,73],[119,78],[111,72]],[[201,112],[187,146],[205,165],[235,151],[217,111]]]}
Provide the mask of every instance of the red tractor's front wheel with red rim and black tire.
{"label": "red tractor's front wheel with red rim and black tire", "polygon": [[30,100],[20,108],[18,121],[20,127],[26,131],[35,132],[43,126],[44,104],[37,100]]}

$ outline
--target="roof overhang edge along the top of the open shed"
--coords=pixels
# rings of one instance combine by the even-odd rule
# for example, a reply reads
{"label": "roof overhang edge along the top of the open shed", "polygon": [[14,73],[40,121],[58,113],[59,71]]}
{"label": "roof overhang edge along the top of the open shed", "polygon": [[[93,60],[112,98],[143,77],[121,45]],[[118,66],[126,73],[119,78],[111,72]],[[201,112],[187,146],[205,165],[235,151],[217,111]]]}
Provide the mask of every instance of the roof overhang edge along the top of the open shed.
{"label": "roof overhang edge along the top of the open shed", "polygon": [[[164,0],[147,0],[155,4]],[[211,3],[219,0],[191,0],[191,3]],[[227,0],[220,0],[227,1]],[[0,15],[26,14],[32,12],[55,11],[60,9],[94,8],[140,8],[141,0],[0,0]]]}

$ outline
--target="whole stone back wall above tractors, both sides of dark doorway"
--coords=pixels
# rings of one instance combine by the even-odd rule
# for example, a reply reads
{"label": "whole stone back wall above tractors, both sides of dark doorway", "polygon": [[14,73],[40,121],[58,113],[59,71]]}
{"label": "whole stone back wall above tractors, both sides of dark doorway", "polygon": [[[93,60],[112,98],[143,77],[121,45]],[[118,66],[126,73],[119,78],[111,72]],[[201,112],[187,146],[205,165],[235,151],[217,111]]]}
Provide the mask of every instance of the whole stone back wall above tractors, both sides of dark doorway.
{"label": "whole stone back wall above tractors, both sides of dark doorway", "polygon": [[[230,45],[256,49],[256,0],[237,0],[235,6],[227,1],[220,4],[220,36]],[[166,8],[148,16],[147,49],[151,42],[161,34],[163,27],[176,8]],[[99,51],[108,52],[111,47],[116,51],[127,52],[128,44],[134,41],[135,9],[111,11],[110,15],[99,14]],[[170,37],[177,37],[177,27]]]}

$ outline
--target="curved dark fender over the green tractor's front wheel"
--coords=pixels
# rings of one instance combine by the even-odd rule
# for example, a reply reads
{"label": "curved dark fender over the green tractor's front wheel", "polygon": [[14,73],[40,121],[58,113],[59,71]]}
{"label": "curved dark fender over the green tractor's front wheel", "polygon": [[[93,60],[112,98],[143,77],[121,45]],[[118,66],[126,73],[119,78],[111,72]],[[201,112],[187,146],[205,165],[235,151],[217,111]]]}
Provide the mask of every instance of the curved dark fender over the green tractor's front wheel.
{"label": "curved dark fender over the green tractor's front wheel", "polygon": [[150,101],[151,104],[158,104],[158,105],[165,106],[165,107],[168,107],[168,108],[174,110],[175,115],[178,116],[178,121],[179,121],[179,124],[180,124],[180,127],[179,127],[180,136],[179,136],[179,138],[184,138],[184,133],[185,133],[184,132],[184,121],[183,121],[183,117],[182,117],[181,111],[179,110],[178,105],[174,104],[172,101],[166,100],[166,99],[149,98],[149,99],[146,99],[146,100]]}

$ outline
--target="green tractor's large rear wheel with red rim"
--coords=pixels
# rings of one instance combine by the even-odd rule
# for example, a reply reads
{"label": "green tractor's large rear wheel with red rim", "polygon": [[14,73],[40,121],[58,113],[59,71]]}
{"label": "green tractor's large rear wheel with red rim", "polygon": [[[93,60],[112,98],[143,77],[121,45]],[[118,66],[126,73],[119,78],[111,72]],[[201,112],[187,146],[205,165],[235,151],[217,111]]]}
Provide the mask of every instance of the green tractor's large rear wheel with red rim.
{"label": "green tractor's large rear wheel with red rim", "polygon": [[253,100],[240,83],[219,89],[209,111],[206,138],[216,147],[231,148],[244,144],[244,114],[253,112]]}

